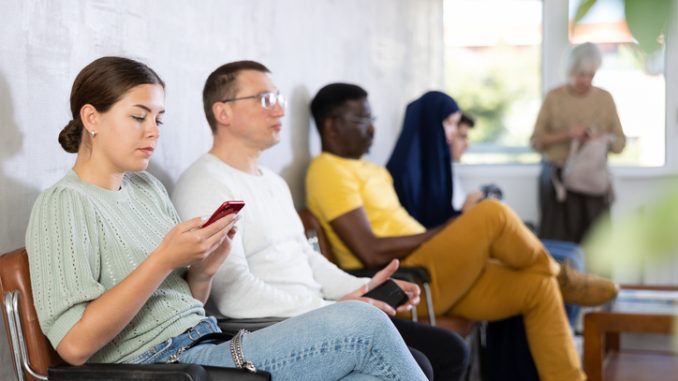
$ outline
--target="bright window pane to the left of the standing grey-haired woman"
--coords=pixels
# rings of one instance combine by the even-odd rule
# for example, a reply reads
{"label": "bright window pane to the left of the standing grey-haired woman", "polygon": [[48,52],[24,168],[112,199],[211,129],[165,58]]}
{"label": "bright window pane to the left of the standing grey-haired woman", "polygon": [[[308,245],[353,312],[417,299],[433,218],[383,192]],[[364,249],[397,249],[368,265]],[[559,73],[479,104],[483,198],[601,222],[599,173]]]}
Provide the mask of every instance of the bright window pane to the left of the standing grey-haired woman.
{"label": "bright window pane to the left of the standing grey-haired woman", "polygon": [[536,163],[542,2],[445,0],[445,89],[476,118],[464,163]]}

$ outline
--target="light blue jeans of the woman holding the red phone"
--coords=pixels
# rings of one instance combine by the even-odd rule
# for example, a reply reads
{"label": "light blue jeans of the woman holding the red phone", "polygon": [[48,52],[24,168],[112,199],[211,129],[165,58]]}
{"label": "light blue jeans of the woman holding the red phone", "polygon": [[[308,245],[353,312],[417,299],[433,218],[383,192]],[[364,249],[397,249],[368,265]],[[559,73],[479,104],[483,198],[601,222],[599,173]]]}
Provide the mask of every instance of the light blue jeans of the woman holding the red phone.
{"label": "light blue jeans of the woman holding the red phone", "polygon": [[[205,319],[157,344],[131,363],[180,363],[234,367],[230,341],[200,343],[219,332]],[[245,359],[275,380],[426,380],[386,314],[363,302],[336,303],[242,337]]]}

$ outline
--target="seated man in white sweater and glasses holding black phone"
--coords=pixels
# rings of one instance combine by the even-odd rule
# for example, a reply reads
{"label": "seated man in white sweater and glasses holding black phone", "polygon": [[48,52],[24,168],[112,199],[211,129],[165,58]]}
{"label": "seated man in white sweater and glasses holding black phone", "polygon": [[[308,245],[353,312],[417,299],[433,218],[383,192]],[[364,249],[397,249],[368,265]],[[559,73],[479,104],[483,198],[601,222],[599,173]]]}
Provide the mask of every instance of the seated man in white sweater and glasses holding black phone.
{"label": "seated man in white sweater and glasses holding black phone", "polygon": [[[259,164],[261,154],[280,140],[286,105],[268,73],[260,63],[238,61],[210,74],[203,106],[213,145],[180,176],[172,195],[182,218],[209,215],[225,200],[245,201],[231,254],[214,277],[211,301],[220,314],[232,318],[291,317],[349,299],[394,315],[389,305],[363,294],[388,279],[397,261],[372,279],[337,268],[306,240],[285,181]],[[396,282],[410,296],[408,304],[418,303],[417,285]],[[398,311],[407,309],[405,305]],[[457,335],[408,320],[392,321],[427,375],[434,373],[436,380],[461,377],[468,353]]]}

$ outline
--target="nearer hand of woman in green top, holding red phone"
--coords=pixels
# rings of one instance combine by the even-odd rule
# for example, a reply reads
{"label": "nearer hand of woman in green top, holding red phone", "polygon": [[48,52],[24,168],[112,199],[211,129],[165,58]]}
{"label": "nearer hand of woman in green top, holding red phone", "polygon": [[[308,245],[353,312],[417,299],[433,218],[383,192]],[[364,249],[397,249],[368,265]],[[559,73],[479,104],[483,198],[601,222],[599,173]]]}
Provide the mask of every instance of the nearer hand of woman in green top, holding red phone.
{"label": "nearer hand of woman in green top, holding red phone", "polygon": [[[235,215],[228,215],[205,228],[201,227],[204,221],[200,217],[180,223],[170,230],[152,255],[157,256],[170,270],[202,262],[220,248],[233,229],[234,220]],[[229,250],[230,241],[221,247],[217,257],[223,256],[225,259]]]}

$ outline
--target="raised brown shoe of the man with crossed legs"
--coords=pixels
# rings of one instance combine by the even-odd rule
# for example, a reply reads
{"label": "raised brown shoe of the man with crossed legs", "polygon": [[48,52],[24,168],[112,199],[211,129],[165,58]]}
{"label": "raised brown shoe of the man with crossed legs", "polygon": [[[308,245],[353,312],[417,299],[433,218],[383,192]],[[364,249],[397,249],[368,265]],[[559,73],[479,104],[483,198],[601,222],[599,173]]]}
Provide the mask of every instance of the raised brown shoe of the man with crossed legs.
{"label": "raised brown shoe of the man with crossed legs", "polygon": [[557,279],[565,303],[599,306],[617,297],[619,292],[619,286],[613,281],[580,273],[567,262],[560,265]]}

